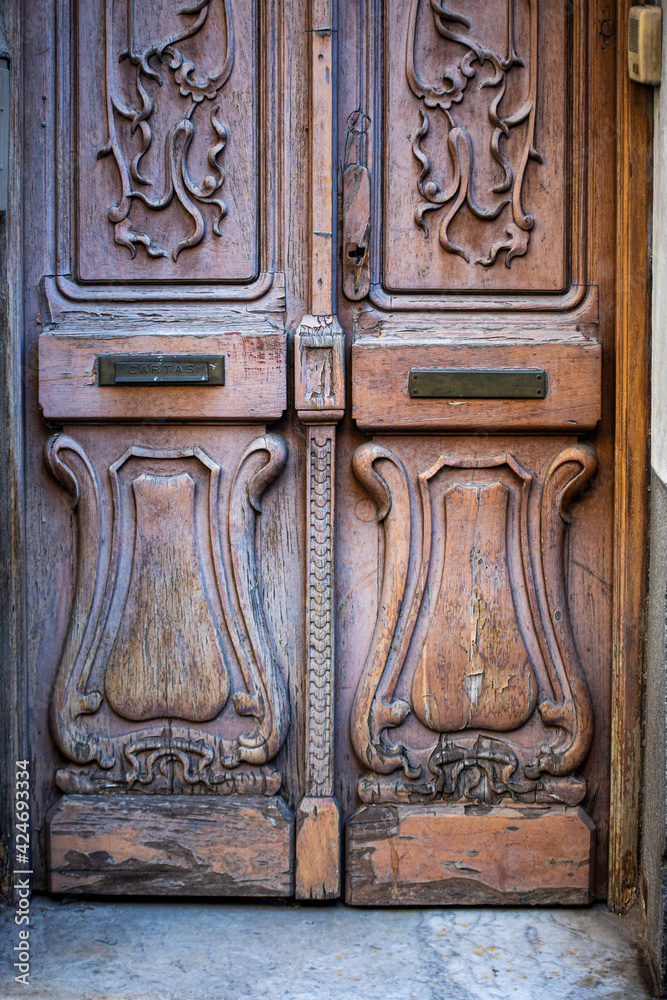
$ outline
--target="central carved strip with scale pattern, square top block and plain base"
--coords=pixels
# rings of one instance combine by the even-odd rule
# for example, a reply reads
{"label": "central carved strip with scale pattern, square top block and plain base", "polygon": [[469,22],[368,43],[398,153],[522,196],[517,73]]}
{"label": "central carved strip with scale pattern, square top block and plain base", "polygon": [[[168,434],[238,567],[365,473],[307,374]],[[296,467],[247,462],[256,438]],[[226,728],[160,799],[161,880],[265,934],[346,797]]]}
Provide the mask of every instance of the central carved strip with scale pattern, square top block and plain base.
{"label": "central carved strip with scale pattern, square top block and plain base", "polygon": [[345,405],[344,338],[333,316],[306,316],[296,335],[296,406],[307,426],[306,794],[297,812],[296,895],[339,893],[334,799],[334,510],[336,423]]}

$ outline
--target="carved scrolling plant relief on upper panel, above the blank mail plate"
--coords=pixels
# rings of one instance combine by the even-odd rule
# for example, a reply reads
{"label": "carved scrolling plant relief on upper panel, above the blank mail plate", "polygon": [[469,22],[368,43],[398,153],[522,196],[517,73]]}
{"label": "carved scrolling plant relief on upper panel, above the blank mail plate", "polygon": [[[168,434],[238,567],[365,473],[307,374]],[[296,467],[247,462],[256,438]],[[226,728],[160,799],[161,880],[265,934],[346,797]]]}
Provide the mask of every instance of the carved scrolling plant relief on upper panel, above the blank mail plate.
{"label": "carved scrolling plant relief on upper panel, above the blank mail plate", "polygon": [[[504,53],[493,51],[478,37],[474,7],[470,18],[440,0],[412,0],[410,9],[406,76],[410,90],[422,104],[421,124],[412,140],[412,151],[420,167],[417,188],[424,199],[415,210],[415,223],[428,236],[427,213],[444,211],[439,230],[441,246],[447,253],[470,262],[469,250],[459,246],[450,234],[461,209],[467,206],[475,219],[489,223],[511,205],[512,220],[504,224],[501,237],[492,240],[486,255],[475,260],[484,267],[495,264],[501,253],[505,253],[507,267],[513,258],[526,254],[534,226],[533,217],[523,207],[522,190],[529,161],[541,162],[535,148],[539,0],[526,0],[530,9],[530,47],[523,53],[515,47],[516,7],[520,2],[523,0],[498,0],[495,4],[498,18],[504,17],[507,26]],[[446,60],[445,72],[437,83],[424,79],[419,67],[416,35],[423,5],[430,6]],[[506,108],[509,78],[524,67],[527,92],[518,103]],[[479,79],[484,71],[487,75],[479,83],[479,90],[488,88],[488,128],[483,128],[483,138],[476,140],[466,105],[472,81]],[[431,109],[437,109],[444,117],[446,148],[429,149]],[[477,162],[489,154],[496,165],[497,177],[489,190],[482,191]],[[438,180],[441,177],[448,178],[446,184]]]}

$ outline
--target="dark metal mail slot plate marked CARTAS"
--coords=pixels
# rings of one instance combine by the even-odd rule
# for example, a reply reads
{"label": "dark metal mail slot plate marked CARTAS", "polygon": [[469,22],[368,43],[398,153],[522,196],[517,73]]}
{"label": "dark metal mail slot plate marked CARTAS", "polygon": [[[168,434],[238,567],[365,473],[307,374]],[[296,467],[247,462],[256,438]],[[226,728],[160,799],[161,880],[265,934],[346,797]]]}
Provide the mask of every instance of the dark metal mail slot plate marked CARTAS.
{"label": "dark metal mail slot plate marked CARTAS", "polygon": [[225,359],[201,354],[101,354],[99,385],[224,385]]}

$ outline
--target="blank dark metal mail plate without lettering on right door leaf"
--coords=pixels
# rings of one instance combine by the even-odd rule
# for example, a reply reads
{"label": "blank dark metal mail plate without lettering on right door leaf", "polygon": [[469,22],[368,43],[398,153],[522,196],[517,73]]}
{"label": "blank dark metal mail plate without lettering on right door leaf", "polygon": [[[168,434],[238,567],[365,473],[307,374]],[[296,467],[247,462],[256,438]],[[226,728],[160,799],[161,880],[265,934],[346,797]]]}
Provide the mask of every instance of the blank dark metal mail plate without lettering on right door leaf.
{"label": "blank dark metal mail plate without lettering on right door leaf", "polygon": [[411,368],[412,399],[544,399],[541,368]]}

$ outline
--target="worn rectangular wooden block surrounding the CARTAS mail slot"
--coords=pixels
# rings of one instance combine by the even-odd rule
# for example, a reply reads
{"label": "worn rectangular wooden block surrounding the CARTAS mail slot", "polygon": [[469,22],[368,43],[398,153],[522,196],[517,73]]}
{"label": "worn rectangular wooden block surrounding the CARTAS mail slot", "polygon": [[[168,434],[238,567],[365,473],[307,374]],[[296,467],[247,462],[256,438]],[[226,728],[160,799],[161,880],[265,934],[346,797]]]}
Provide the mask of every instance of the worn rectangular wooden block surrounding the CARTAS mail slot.
{"label": "worn rectangular wooden block surrounding the CARTAS mail slot", "polygon": [[[225,384],[100,386],[101,354],[207,354],[224,357]],[[59,337],[39,339],[39,402],[48,419],[276,420],[286,404],[282,335],[228,333],[201,337]]]}

